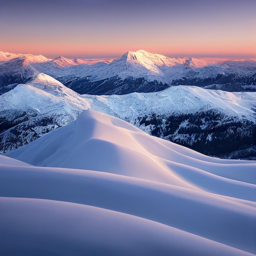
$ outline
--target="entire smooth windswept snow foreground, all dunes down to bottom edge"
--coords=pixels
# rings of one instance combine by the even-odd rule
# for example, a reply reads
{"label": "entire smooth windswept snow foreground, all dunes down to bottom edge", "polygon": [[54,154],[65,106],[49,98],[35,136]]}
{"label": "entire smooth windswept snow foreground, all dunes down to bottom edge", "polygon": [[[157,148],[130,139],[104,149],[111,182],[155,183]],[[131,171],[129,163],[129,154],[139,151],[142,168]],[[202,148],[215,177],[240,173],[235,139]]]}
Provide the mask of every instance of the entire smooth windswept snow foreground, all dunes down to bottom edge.
{"label": "entire smooth windswept snow foreground, all dunes down to bottom edge", "polygon": [[6,155],[34,166],[0,156],[3,255],[256,253],[255,161],[207,157],[94,110]]}

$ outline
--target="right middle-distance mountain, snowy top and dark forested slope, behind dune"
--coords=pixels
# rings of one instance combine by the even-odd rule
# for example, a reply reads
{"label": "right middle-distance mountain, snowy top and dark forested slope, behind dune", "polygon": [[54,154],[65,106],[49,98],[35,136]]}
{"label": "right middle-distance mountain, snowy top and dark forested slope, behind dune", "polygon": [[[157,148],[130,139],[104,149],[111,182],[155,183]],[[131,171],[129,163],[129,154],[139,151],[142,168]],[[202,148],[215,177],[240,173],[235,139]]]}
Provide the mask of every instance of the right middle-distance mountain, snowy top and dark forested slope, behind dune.
{"label": "right middle-distance mountain, snowy top and dark forested slope, behind dune", "polygon": [[[110,115],[151,135],[207,155],[255,159],[255,92],[224,92],[180,85],[157,93],[92,99],[99,101],[95,110],[106,112],[108,108]],[[241,151],[233,156],[236,150]]]}

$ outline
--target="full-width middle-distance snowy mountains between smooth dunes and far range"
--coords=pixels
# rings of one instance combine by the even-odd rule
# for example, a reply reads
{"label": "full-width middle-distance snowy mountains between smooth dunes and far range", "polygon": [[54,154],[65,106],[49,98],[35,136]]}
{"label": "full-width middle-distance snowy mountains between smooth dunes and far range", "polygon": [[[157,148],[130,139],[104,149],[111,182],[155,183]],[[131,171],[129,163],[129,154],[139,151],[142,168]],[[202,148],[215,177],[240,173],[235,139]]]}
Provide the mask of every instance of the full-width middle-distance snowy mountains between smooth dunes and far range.
{"label": "full-width middle-distance snowy mountains between smooth dunes and far range", "polygon": [[85,109],[126,120],[207,155],[256,156],[255,92],[180,85],[153,93],[80,95],[45,74],[0,96],[1,153],[69,124]]}

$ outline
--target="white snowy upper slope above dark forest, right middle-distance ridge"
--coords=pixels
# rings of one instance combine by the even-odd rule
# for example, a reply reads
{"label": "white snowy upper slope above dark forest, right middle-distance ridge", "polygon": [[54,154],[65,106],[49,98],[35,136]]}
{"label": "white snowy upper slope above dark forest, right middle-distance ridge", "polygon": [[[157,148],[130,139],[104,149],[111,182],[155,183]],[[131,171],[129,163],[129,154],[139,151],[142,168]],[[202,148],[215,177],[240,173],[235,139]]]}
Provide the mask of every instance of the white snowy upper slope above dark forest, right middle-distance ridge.
{"label": "white snowy upper slope above dark forest, right middle-distance ridge", "polygon": [[[90,96],[91,108],[121,119],[143,116],[150,112],[157,115],[196,113],[202,110],[221,112],[227,116],[256,122],[255,92],[225,92],[206,90],[197,86],[173,86],[162,92],[131,93],[126,95]],[[109,111],[103,111],[109,109]]]}

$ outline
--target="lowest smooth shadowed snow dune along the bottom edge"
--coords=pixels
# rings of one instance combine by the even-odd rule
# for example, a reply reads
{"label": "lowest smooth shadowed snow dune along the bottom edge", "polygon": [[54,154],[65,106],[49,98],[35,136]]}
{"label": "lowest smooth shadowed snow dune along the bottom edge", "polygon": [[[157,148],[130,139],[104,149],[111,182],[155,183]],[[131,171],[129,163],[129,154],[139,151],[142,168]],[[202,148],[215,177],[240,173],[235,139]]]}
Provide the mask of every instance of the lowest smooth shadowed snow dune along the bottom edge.
{"label": "lowest smooth shadowed snow dune along the bottom edge", "polygon": [[97,207],[27,198],[0,203],[2,255],[252,255]]}

